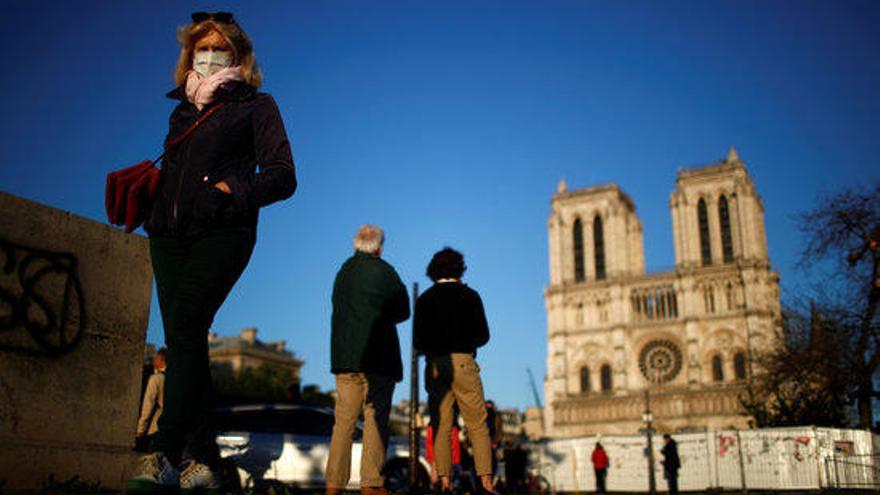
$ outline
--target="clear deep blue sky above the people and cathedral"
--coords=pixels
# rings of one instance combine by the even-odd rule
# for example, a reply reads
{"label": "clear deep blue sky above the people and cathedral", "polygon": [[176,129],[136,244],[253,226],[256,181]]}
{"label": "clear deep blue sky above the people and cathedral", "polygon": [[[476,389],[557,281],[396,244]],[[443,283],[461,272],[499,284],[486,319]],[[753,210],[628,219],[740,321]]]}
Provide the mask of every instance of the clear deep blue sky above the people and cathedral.
{"label": "clear deep blue sky above the people and cathedral", "polygon": [[[648,268],[669,267],[676,170],[734,145],[792,294],[809,283],[793,216],[880,178],[877,2],[33,1],[0,20],[0,189],[105,221],[105,174],[162,142],[175,28],[194,10],[233,11],[250,34],[300,180],[262,212],[214,331],[287,341],[325,389],[333,276],[362,223],[386,229],[407,285],[426,287],[444,245],[464,252],[493,331],[487,396],[524,407],[526,369],[545,372],[559,179],[618,183]],[[148,340],[161,335],[154,304]]]}

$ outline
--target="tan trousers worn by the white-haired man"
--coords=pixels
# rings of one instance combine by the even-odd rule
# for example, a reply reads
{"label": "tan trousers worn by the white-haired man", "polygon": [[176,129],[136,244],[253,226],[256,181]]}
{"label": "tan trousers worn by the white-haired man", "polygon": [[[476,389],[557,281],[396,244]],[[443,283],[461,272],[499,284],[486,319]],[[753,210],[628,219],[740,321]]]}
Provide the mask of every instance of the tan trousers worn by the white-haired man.
{"label": "tan trousers worn by the white-haired man", "polygon": [[351,442],[355,425],[364,412],[364,447],[361,451],[361,487],[385,483],[382,465],[388,444],[388,416],[394,380],[365,373],[336,375],[336,408],[330,454],[327,457],[327,488],[344,489],[351,475]]}

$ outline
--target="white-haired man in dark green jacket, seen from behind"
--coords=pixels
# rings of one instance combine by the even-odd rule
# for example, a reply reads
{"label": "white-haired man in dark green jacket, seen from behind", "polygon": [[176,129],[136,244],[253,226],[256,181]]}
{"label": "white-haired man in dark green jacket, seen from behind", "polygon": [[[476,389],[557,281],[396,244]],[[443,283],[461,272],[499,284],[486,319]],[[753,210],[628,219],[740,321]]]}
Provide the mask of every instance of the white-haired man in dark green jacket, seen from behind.
{"label": "white-haired man in dark green jacket, seen from behind", "polygon": [[409,296],[394,268],[381,259],[385,234],[363,225],[354,236],[354,255],[333,284],[330,366],[336,375],[336,410],[327,493],[348,485],[355,424],[364,413],[361,493],[387,495],[382,465],[394,383],[403,379],[396,324],[409,318]]}

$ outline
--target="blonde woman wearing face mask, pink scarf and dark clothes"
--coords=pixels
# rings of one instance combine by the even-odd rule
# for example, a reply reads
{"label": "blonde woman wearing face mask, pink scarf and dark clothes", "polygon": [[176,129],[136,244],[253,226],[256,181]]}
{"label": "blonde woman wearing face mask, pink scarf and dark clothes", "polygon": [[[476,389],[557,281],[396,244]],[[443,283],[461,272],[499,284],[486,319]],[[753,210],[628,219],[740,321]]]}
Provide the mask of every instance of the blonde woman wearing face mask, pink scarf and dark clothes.
{"label": "blonde woman wearing face mask, pink scarf and dark clothes", "polygon": [[168,362],[159,432],[128,493],[220,488],[208,330],[250,259],[259,209],[296,189],[281,115],[257,92],[253,47],[232,15],[193,14],[178,39],[177,89],[168,97],[180,103],[166,144],[207,117],[165,157],[144,226]]}

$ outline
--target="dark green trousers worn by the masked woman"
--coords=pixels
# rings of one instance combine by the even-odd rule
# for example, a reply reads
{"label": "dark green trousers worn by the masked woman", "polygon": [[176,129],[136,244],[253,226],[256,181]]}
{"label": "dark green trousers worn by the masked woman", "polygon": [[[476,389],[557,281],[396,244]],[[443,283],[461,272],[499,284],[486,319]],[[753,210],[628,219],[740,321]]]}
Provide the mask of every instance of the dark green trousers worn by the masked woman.
{"label": "dark green trousers worn by the masked woman", "polygon": [[165,329],[165,403],[152,444],[179,463],[190,457],[214,466],[219,458],[212,422],[208,331],[244,271],[253,230],[218,231],[198,238],[151,237],[150,254]]}

